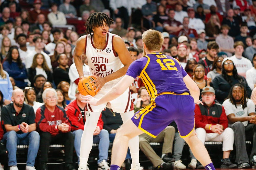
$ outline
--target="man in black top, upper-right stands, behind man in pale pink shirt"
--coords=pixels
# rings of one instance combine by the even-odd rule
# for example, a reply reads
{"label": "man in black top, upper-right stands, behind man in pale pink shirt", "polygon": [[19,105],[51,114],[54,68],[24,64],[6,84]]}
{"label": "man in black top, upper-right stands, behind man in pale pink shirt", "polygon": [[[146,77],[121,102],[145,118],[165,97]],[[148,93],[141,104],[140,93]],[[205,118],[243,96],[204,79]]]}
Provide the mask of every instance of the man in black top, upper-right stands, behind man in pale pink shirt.
{"label": "man in black top, upper-right stands, behind man in pale pink shirt", "polygon": [[236,37],[240,34],[240,27],[238,20],[234,19],[233,9],[227,11],[227,17],[223,19],[221,25],[228,25],[232,31],[228,32],[228,35],[231,37]]}

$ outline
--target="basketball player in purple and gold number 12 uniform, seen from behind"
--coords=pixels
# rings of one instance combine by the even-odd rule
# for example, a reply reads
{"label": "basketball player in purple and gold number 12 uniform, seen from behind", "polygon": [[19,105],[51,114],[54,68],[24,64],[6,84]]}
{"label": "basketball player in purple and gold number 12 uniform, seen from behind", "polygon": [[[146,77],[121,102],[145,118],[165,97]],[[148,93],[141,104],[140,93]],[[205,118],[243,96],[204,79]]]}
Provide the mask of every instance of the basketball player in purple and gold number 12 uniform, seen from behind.
{"label": "basketball player in purple and gold number 12 uniform, seen from behind", "polygon": [[139,76],[150,94],[151,103],[126,121],[116,134],[112,148],[110,170],[119,170],[127,151],[129,139],[146,133],[156,137],[175,120],[179,134],[193,154],[208,170],[215,170],[204,144],[194,131],[194,103],[199,100],[199,88],[180,66],[178,60],[159,53],[163,35],[147,30],[142,34],[144,54],[128,68],[125,76],[102,98],[83,96],[82,102],[98,105],[118,97]]}

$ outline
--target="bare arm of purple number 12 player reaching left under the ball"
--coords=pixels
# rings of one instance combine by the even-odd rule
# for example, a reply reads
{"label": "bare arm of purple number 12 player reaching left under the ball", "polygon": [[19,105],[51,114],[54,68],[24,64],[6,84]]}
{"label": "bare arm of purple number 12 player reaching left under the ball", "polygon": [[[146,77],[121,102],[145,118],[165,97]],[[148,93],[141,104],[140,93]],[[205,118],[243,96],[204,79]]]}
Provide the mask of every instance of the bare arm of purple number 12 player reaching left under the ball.
{"label": "bare arm of purple number 12 player reaching left under the ball", "polygon": [[86,96],[82,96],[82,100],[81,102],[83,103],[89,103],[92,104],[94,106],[97,106],[99,104],[103,104],[103,103],[107,103],[115,98],[117,98],[118,96],[120,96],[121,94],[124,93],[124,91],[130,87],[130,85],[132,84],[132,82],[134,82],[134,78],[129,76],[129,75],[125,75],[114,87],[112,87],[109,92],[107,94],[105,94],[102,98],[100,99],[95,99],[94,97],[90,96],[90,95],[86,95]]}

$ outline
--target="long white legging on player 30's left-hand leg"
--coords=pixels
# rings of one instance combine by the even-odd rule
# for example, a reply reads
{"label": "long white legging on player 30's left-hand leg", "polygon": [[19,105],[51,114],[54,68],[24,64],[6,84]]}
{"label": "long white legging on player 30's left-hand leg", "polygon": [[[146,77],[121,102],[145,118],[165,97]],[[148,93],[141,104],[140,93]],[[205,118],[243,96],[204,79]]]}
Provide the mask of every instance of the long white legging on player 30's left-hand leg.
{"label": "long white legging on player 30's left-hand leg", "polygon": [[[86,111],[86,121],[83,129],[80,147],[80,166],[86,166],[89,154],[92,150],[92,138],[95,128],[97,126],[101,112]],[[90,115],[90,116],[87,116]]]}

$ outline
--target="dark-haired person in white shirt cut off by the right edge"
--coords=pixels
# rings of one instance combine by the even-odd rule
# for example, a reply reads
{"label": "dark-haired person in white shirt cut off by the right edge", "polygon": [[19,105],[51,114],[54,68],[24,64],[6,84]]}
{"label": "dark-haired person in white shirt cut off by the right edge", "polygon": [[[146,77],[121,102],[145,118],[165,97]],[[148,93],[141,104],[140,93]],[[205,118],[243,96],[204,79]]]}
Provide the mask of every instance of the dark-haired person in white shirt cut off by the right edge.
{"label": "dark-haired person in white shirt cut off by the right edge", "polygon": [[256,54],[253,55],[252,62],[254,67],[246,71],[246,81],[251,90],[256,87]]}

